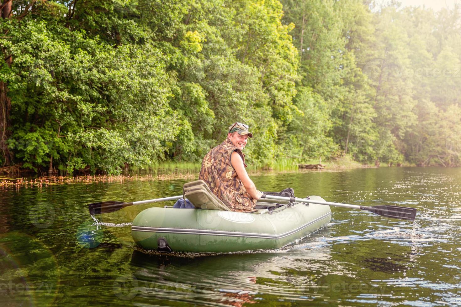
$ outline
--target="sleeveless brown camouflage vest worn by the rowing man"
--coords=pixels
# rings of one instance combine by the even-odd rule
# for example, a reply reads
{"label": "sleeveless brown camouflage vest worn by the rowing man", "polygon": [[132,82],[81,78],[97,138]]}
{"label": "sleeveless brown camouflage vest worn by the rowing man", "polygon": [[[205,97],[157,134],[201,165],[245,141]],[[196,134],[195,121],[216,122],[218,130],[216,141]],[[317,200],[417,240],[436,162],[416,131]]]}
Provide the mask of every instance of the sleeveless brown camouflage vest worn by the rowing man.
{"label": "sleeveless brown camouflage vest worn by the rowing man", "polygon": [[247,167],[242,151],[226,139],[203,158],[199,179],[205,181],[213,194],[229,209],[247,212],[254,209],[256,199],[245,190],[231,165],[231,154],[234,151],[242,156],[243,165]]}

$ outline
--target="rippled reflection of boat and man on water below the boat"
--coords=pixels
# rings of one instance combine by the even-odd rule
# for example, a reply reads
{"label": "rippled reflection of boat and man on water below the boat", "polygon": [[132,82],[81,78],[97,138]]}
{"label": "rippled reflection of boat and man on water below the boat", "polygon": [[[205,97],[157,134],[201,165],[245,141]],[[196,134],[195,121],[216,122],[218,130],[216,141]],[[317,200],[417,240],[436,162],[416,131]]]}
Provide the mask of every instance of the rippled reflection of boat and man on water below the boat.
{"label": "rippled reflection of boat and man on water below the boat", "polygon": [[296,249],[219,255],[135,250],[129,279],[136,280],[138,295],[160,305],[241,306],[267,295],[300,300],[331,266],[330,246],[315,238],[302,241],[322,246],[310,250],[308,259],[306,250]]}

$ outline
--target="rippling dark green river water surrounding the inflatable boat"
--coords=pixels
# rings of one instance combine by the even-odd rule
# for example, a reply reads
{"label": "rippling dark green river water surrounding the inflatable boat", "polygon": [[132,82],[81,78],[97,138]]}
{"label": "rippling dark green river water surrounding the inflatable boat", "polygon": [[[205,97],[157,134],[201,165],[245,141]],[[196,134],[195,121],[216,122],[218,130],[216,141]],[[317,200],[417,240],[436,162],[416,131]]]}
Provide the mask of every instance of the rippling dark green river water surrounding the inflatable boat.
{"label": "rippling dark green river water surrounding the inflatable boat", "polygon": [[[252,176],[261,191],[418,209],[415,222],[331,207],[331,223],[281,250],[160,255],[133,244],[149,205],[88,203],[182,193],[186,180],[0,190],[3,306],[440,306],[461,304],[460,168],[372,168]],[[162,204],[156,204],[162,206]],[[172,204],[172,203],[168,203]]]}

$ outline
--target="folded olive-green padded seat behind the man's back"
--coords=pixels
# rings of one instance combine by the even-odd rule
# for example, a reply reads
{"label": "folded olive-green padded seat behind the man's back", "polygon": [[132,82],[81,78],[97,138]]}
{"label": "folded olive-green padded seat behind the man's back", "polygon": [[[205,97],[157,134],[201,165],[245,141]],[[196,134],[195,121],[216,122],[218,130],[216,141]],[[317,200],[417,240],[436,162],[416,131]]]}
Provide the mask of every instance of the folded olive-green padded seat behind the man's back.
{"label": "folded olive-green padded seat behind the man's back", "polygon": [[232,211],[213,194],[203,180],[185,183],[183,195],[198,209]]}

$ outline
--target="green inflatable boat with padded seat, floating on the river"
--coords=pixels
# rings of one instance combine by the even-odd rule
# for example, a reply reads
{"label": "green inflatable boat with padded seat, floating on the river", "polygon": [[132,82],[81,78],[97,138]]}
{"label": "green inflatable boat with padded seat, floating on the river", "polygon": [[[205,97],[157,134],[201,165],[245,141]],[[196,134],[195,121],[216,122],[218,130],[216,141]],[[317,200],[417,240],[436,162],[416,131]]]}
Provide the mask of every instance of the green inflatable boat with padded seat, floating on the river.
{"label": "green inflatable boat with padded seat, floating on the river", "polygon": [[233,212],[201,180],[186,183],[183,196],[196,209],[149,208],[136,216],[131,234],[138,246],[196,253],[279,249],[331,220],[329,206],[268,199],[252,213]]}

